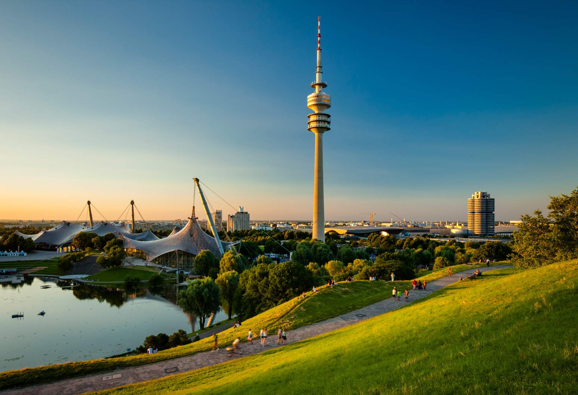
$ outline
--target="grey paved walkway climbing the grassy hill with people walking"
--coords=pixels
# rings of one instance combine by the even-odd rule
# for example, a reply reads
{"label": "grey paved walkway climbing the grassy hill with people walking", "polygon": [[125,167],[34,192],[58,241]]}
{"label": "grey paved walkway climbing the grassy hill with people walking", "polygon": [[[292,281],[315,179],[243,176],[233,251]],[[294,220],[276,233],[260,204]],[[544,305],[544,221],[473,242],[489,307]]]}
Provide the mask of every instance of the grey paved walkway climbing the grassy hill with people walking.
{"label": "grey paved walkway climbing the grassy hill with people walking", "polygon": [[[489,268],[480,268],[481,272],[488,270],[501,269],[511,267],[509,265],[502,266],[490,266]],[[460,280],[460,277],[466,278],[473,275],[475,269],[458,272],[451,277],[443,277],[438,280],[428,283],[427,290],[410,290],[410,302],[421,299],[429,294],[435,292],[436,290],[442,289],[454,282]],[[301,327],[292,331],[287,332],[287,338],[289,342],[297,342],[299,340],[314,337],[320,334],[327,333],[329,331],[343,328],[351,324],[361,322],[363,320],[373,318],[375,316],[387,313],[394,309],[403,307],[408,303],[403,300],[393,301],[392,298],[387,298],[380,302],[374,303],[372,305],[357,309],[355,311],[345,313],[343,315],[337,316],[325,320],[323,322],[318,322],[309,326]],[[258,335],[258,334],[257,334]],[[110,389],[113,387],[118,387],[121,385],[139,383],[143,381],[149,381],[152,379],[158,379],[162,377],[169,376],[171,374],[187,372],[202,367],[230,361],[231,359],[257,354],[276,348],[277,336],[276,333],[271,333],[268,338],[268,344],[266,346],[260,345],[260,339],[256,339],[253,345],[242,343],[240,346],[239,355],[229,355],[224,347],[216,352],[200,352],[195,355],[187,357],[179,357],[171,360],[161,361],[157,363],[151,363],[148,365],[137,366],[132,368],[127,368],[123,370],[116,370],[113,372],[108,372],[104,374],[99,374],[95,376],[80,377],[65,381],[59,381],[55,383],[38,385],[34,387],[26,387],[23,389],[12,390],[4,392],[6,394],[13,395],[73,395],[81,394],[91,391]]]}

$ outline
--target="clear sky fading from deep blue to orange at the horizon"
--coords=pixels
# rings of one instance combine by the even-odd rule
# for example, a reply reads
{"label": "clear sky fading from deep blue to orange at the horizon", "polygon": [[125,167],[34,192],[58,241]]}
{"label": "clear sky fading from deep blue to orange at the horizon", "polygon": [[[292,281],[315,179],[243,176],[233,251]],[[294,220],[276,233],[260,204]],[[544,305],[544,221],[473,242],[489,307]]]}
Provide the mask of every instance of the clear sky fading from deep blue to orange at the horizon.
{"label": "clear sky fading from deep blue to orange at the horizon", "polygon": [[310,220],[317,16],[326,220],[462,221],[481,190],[509,221],[575,189],[576,2],[13,0],[0,219],[185,218],[198,177],[224,217]]}

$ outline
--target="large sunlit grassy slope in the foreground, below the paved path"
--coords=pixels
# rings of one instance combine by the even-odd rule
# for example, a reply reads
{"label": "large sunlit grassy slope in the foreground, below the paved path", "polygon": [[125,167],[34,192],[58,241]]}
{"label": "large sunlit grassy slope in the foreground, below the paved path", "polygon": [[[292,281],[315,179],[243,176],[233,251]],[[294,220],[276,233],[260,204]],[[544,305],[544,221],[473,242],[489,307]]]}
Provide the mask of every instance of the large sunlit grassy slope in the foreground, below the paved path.
{"label": "large sunlit grassy slope in the foreground, below the paved path", "polygon": [[98,394],[575,394],[577,262],[491,271],[353,326]]}

